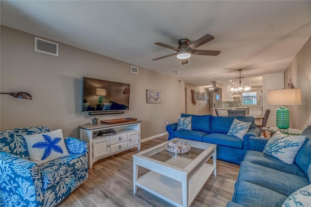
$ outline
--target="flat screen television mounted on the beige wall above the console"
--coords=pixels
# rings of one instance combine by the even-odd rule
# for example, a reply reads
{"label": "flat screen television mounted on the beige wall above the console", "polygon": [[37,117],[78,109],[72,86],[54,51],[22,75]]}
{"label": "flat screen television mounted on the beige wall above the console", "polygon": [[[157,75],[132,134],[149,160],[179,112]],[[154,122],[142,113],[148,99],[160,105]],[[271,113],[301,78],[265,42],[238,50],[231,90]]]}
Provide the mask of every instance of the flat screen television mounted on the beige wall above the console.
{"label": "flat screen television mounted on the beige wall above the console", "polygon": [[130,84],[83,77],[82,112],[128,110]]}

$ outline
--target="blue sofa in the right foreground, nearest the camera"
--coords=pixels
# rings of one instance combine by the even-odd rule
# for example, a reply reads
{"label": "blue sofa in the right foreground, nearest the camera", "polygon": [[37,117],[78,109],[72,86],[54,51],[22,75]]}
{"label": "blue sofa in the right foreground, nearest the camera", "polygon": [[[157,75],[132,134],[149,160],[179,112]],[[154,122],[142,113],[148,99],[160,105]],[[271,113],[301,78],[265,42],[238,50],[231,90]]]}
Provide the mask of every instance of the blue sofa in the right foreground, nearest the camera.
{"label": "blue sofa in the right foreground, nearest the camera", "polygon": [[267,138],[251,137],[232,201],[227,203],[227,207],[281,207],[293,192],[310,185],[311,126],[304,129],[301,135],[307,139],[293,164],[262,153]]}

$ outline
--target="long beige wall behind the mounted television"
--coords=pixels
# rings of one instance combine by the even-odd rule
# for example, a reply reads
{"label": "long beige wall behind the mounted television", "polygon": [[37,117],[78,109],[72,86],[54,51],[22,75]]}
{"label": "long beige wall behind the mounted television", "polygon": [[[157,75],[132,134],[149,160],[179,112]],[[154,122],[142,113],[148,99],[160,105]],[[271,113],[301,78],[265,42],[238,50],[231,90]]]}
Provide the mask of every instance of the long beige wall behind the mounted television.
{"label": "long beige wall behind the mounted television", "polygon": [[[138,57],[139,58],[139,57]],[[78,125],[100,120],[137,118],[141,138],[166,132],[166,122],[176,122],[185,111],[184,84],[177,78],[59,44],[59,56],[34,52],[34,35],[1,26],[1,92],[26,91],[33,100],[1,95],[0,128],[47,125],[79,137]],[[81,112],[82,77],[131,84],[130,110],[122,115],[89,116]],[[146,89],[161,91],[161,104],[146,104]]]}

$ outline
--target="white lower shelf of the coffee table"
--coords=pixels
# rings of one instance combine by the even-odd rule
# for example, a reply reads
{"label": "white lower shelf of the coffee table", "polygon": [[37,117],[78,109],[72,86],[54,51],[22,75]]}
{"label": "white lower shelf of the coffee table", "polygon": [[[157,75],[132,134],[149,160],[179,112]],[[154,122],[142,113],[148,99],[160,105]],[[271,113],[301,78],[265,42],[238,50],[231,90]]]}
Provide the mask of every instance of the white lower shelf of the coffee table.
{"label": "white lower shelf of the coffee table", "polygon": [[[206,163],[190,178],[188,206],[202,190],[214,169],[213,165]],[[136,185],[177,207],[183,207],[182,182],[178,180],[150,171],[140,176]]]}

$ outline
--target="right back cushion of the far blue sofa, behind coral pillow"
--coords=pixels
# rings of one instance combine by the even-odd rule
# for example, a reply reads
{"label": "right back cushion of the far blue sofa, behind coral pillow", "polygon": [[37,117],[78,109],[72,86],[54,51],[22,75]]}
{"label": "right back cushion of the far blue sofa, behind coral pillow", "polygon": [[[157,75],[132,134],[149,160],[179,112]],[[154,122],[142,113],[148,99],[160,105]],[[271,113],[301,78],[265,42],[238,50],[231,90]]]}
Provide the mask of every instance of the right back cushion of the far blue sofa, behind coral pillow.
{"label": "right back cushion of the far blue sofa, behind coral pillow", "polygon": [[252,122],[250,129],[256,128],[254,117],[211,117],[210,133],[227,134],[234,119],[245,122]]}

